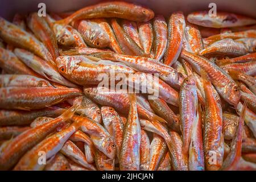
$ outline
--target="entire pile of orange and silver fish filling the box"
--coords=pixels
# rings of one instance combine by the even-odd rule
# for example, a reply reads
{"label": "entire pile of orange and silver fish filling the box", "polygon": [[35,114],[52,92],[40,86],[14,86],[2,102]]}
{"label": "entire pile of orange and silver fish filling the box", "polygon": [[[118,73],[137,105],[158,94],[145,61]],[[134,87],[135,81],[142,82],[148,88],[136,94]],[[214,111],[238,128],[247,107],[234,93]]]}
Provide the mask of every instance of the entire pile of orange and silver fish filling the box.
{"label": "entire pile of orange and silver fish filling the box", "polygon": [[[0,17],[0,170],[256,170],[254,18],[120,1]],[[141,87],[101,85],[113,73]]]}

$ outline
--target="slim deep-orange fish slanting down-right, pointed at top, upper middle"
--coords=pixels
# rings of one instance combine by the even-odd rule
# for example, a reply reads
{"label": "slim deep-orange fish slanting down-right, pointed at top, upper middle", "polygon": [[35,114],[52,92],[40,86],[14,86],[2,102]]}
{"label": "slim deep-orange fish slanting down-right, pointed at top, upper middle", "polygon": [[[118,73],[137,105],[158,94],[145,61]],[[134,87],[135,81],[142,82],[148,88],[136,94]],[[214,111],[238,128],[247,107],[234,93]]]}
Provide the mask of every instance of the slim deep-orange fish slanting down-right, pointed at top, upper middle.
{"label": "slim deep-orange fish slanting down-right, pointed at top, upper middle", "polygon": [[144,55],[143,49],[140,48],[138,44],[135,43],[134,40],[131,39],[131,37],[128,34],[126,34],[123,28],[118,24],[116,19],[111,19],[111,25],[123,53],[125,53],[126,55],[132,55],[132,56]]}

